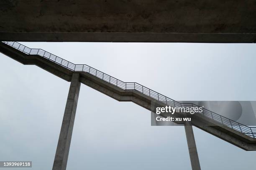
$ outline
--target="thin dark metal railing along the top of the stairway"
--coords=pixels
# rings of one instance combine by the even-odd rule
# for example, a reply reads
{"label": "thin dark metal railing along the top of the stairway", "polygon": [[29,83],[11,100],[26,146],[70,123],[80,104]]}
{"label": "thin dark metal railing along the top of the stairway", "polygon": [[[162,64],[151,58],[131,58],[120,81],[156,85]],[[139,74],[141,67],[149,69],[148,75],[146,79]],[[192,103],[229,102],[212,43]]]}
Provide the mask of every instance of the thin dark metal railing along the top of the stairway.
{"label": "thin dark metal railing along the top of the stairway", "polygon": [[[10,41],[2,41],[2,42],[9,45],[10,47],[13,47],[13,48],[19,50],[20,52],[27,54],[27,55],[38,55],[38,56],[44,57],[58,65],[61,65],[62,67],[72,70],[72,71],[88,72],[89,74],[94,75],[106,82],[109,82],[110,84],[115,85],[123,90],[136,90],[136,91],[141,92],[149,97],[152,97],[160,102],[163,102],[166,105],[170,105],[172,107],[176,107],[176,106],[177,107],[200,107],[193,103],[177,102],[175,100],[172,100],[169,97],[166,97],[165,95],[161,95],[160,93],[158,93],[154,90],[151,90],[143,85],[140,85],[137,82],[123,82],[123,81],[118,80],[117,78],[112,77],[104,72],[101,72],[93,67],[90,67],[88,65],[74,64],[72,62],[64,60],[64,59],[62,59],[56,55],[53,55],[45,50],[42,50],[42,49],[31,49],[31,48],[26,47],[25,45],[22,45],[18,42],[10,42]],[[203,116],[208,117],[212,120],[215,120],[216,122],[219,122],[222,125],[228,126],[229,128],[237,130],[237,131],[239,131],[243,134],[246,134],[252,138],[256,138],[256,128],[243,125],[239,122],[231,120],[222,115],[218,115],[217,113],[207,110],[205,108],[202,108],[202,110],[203,111],[201,114]]]}

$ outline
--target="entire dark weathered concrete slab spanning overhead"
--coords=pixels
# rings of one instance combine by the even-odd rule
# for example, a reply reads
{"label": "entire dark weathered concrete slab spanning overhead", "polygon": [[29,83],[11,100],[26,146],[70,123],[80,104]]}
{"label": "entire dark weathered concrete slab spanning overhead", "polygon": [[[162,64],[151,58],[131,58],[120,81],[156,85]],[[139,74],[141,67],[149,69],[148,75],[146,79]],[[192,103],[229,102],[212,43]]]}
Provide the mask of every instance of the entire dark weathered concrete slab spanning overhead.
{"label": "entire dark weathered concrete slab spanning overhead", "polygon": [[255,0],[0,1],[0,40],[255,42]]}

